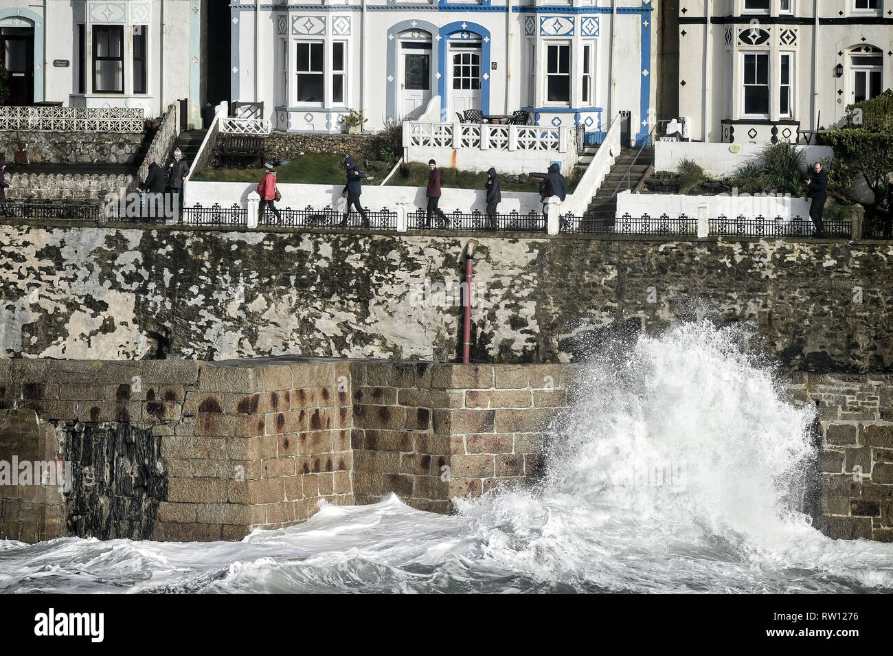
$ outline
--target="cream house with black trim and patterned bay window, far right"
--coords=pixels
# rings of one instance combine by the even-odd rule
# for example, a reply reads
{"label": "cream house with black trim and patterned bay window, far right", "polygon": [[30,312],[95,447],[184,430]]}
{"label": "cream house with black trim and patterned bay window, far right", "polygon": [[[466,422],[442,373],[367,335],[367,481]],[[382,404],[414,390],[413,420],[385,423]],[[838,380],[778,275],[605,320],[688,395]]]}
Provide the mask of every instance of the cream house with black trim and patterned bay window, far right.
{"label": "cream house with black trim and patterned bay window, far right", "polygon": [[693,139],[803,144],[893,87],[893,0],[678,5],[679,113]]}

